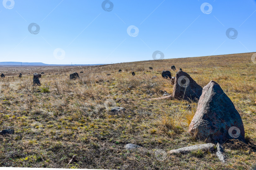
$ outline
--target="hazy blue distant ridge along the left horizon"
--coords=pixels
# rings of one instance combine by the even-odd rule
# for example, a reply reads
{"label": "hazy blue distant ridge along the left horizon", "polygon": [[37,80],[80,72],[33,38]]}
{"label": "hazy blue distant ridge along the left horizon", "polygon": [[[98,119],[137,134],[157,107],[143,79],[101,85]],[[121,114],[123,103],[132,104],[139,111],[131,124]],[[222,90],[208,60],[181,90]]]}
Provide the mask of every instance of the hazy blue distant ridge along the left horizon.
{"label": "hazy blue distant ridge along the left horizon", "polygon": [[[67,65],[71,65],[71,64],[45,64],[45,63],[28,63],[28,62],[0,62],[0,65],[13,65],[13,66],[67,66]],[[72,64],[72,65],[104,65],[104,64]]]}

